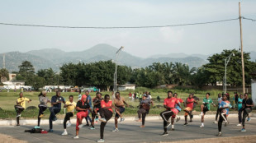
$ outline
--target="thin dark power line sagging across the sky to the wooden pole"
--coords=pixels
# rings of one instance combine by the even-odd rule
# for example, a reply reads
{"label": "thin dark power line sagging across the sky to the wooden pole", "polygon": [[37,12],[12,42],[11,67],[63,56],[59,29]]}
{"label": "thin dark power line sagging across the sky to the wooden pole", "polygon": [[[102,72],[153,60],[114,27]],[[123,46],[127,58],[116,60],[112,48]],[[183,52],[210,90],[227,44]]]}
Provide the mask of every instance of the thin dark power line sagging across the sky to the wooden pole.
{"label": "thin dark power line sagging across the sky to the wooden pole", "polygon": [[175,27],[175,26],[184,26],[184,25],[206,25],[211,23],[220,23],[220,22],[235,21],[235,20],[239,20],[239,18],[220,20],[220,21],[178,24],[178,25],[152,25],[152,26],[149,25],[149,26],[124,26],[124,27],[93,27],[93,26],[83,27],[83,26],[63,26],[63,25],[30,25],[30,24],[14,24],[14,23],[0,23],[0,25],[17,25],[17,26],[46,27],[46,28],[69,28],[69,29],[142,29],[142,28]]}

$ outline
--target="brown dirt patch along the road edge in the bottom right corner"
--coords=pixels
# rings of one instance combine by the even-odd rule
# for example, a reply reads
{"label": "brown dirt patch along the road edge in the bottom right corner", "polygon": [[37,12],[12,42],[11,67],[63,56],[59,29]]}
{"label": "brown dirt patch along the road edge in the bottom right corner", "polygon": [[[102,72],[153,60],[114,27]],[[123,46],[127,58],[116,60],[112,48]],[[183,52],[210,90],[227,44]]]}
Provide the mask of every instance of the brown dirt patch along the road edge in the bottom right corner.
{"label": "brown dirt patch along the road edge in the bottom right corner", "polygon": [[254,136],[231,136],[231,137],[218,137],[218,138],[207,138],[207,139],[195,139],[195,140],[185,140],[185,141],[171,141],[171,142],[161,142],[161,143],[254,143],[256,141],[256,135]]}

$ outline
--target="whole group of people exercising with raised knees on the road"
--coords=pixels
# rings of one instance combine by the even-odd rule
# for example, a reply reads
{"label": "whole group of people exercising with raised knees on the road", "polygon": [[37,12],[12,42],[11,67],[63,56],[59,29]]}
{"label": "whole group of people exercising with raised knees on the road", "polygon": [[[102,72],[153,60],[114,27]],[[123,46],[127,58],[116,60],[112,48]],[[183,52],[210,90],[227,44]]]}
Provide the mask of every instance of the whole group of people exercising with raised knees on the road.
{"label": "whole group of people exercising with raised knees on the road", "polygon": [[[60,91],[56,91],[56,95],[52,96],[51,99],[49,99],[46,96],[47,92],[42,91],[39,95],[39,101],[40,104],[39,107],[39,114],[38,114],[38,124],[37,127],[40,127],[40,118],[44,117],[44,111],[48,108],[47,104],[50,103],[51,106],[49,108],[50,110],[50,118],[49,118],[49,124],[50,124],[50,130],[49,132],[53,132],[53,123],[57,120],[56,114],[60,112],[61,110],[61,104],[64,104],[64,108],[67,109],[67,113],[65,114],[64,118],[64,132],[62,135],[68,135],[68,131],[66,130],[66,127],[71,126],[70,118],[74,116],[75,110],[77,111],[76,118],[76,136],[74,136],[74,139],[78,139],[78,133],[79,129],[83,127],[82,121],[83,118],[88,119],[91,122],[91,128],[95,129],[94,122],[97,122],[99,120],[101,122],[100,125],[100,140],[97,142],[104,142],[103,135],[104,135],[104,128],[107,124],[107,122],[112,118],[113,113],[115,113],[115,129],[113,131],[119,131],[118,130],[118,119],[120,119],[120,122],[123,122],[125,118],[122,117],[122,113],[125,112],[126,107],[129,107],[129,105],[126,103],[125,99],[121,97],[119,92],[115,93],[114,98],[112,99],[114,101],[114,104],[112,104],[112,101],[110,99],[110,95],[105,95],[102,99],[102,94],[100,92],[96,93],[96,96],[92,99],[89,95],[88,91],[85,91],[85,95],[81,95],[79,92],[78,95],[78,102],[73,101],[73,95],[69,95],[69,101],[65,101],[65,99],[60,96]],[[27,99],[26,97],[23,97],[23,93],[20,93],[20,97],[17,99],[17,104],[15,105],[15,109],[17,111],[17,126],[20,126],[19,124],[19,118],[21,117],[21,112],[26,108],[26,101],[31,102],[31,99]],[[163,136],[168,136],[167,128],[172,125],[172,127],[169,129],[170,131],[174,131],[174,121],[176,119],[176,122],[180,120],[180,117],[178,116],[178,113],[182,111],[182,104],[184,106],[184,118],[185,123],[184,126],[187,126],[187,116],[189,115],[189,122],[192,122],[193,114],[192,110],[196,107],[197,104],[199,104],[199,99],[197,96],[190,94],[185,101],[183,99],[178,98],[178,94],[174,93],[172,91],[168,91],[167,98],[164,99],[164,108],[165,110],[160,113],[160,116],[164,120],[164,133]],[[221,136],[221,127],[222,123],[225,122],[225,126],[229,124],[227,117],[229,115],[229,109],[232,108],[230,101],[227,99],[227,96],[224,94],[218,95],[218,103],[214,104],[212,99],[210,98],[210,93],[206,93],[206,98],[202,100],[201,103],[201,126],[204,126],[204,116],[207,111],[210,111],[211,104],[213,106],[217,106],[217,113],[216,113],[216,122],[218,123],[218,135]],[[92,106],[93,105],[93,106]],[[153,99],[149,92],[145,92],[144,95],[142,95],[140,100],[140,106],[138,113],[138,120],[137,122],[142,122],[142,125],[140,127],[145,127],[145,118],[146,115],[149,113],[150,107],[154,105]],[[126,107],[125,107],[126,106]],[[243,125],[243,128],[241,131],[245,130],[245,119],[249,118],[249,113],[252,111],[252,107],[254,107],[254,102],[252,99],[249,99],[248,94],[240,95],[238,99],[238,107],[239,107],[239,125]],[[114,109],[114,110],[113,110]],[[92,119],[89,118],[89,114],[92,114]],[[243,116],[242,116],[243,115]],[[219,117],[219,120],[218,120]],[[171,121],[169,121],[169,118],[171,118]],[[88,123],[87,123],[88,124]]]}

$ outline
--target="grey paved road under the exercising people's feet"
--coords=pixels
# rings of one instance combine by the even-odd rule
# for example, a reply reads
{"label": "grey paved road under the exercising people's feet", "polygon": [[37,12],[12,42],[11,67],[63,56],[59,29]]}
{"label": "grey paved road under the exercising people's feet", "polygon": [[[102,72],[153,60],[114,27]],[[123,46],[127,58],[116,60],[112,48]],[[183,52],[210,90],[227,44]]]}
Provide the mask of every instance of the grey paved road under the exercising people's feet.
{"label": "grey paved road under the exercising people's feet", "polygon": [[[217,137],[217,124],[212,123],[213,118],[206,118],[205,127],[200,128],[200,120],[195,119],[187,127],[183,127],[184,121],[176,122],[175,131],[168,131],[169,136],[160,136],[163,131],[163,121],[155,120],[145,123],[145,128],[140,128],[141,122],[122,122],[119,126],[119,132],[112,132],[113,122],[108,122],[105,128],[105,142],[160,142],[160,141],[183,141],[190,139],[212,138]],[[256,135],[256,118],[251,122],[246,122],[246,132],[240,132],[241,127],[236,127],[237,118],[229,118],[230,125],[222,129],[223,137],[225,136],[248,136]],[[28,142],[96,142],[99,139],[99,124],[96,130],[89,130],[88,127],[80,129],[79,139],[73,140],[75,135],[74,125],[68,128],[69,136],[61,136],[63,131],[62,125],[54,125],[54,132],[48,134],[31,134],[24,130],[31,129],[33,126],[21,127],[0,127],[0,133],[13,136],[19,140]],[[42,128],[48,129],[44,125]]]}

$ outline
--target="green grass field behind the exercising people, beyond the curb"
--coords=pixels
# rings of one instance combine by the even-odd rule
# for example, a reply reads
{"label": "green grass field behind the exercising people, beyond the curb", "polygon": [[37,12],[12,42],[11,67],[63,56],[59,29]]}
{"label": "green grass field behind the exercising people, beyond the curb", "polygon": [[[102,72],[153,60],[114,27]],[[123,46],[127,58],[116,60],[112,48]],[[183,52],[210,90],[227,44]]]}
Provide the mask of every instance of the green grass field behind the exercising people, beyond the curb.
{"label": "green grass field behind the exercising people, beyond the curb", "polygon": [[[167,97],[167,89],[146,89],[146,88],[137,88],[135,91],[138,92],[144,92],[145,90],[149,91],[152,95],[152,98],[154,99],[154,107],[150,109],[149,115],[159,115],[161,111],[164,110],[164,108],[155,108],[155,105],[163,105],[164,99]],[[222,91],[220,90],[209,90],[209,91],[201,91],[201,90],[172,90],[173,93],[176,92],[178,93],[178,97],[181,99],[186,99],[189,95],[189,93],[194,93],[199,99],[200,103],[201,100],[205,97],[206,92],[209,92],[211,94],[210,98],[216,103],[217,95],[218,93],[221,93]],[[10,92],[7,92],[6,90],[2,90],[0,92],[0,118],[2,119],[11,119],[16,117],[16,112],[14,110],[14,105],[16,104],[16,99],[19,97],[19,90],[14,92],[11,90]],[[129,94],[130,91],[121,91],[121,96],[125,97],[127,103],[129,105],[132,105],[135,108],[126,108],[126,112],[124,113],[125,116],[135,116],[136,111],[137,111],[137,106],[139,105],[139,99],[136,101],[130,101],[129,99]],[[134,91],[132,91],[134,92]],[[111,92],[102,92],[102,95],[111,95]],[[24,92],[24,97],[32,99],[31,103],[26,103],[26,107],[29,106],[38,106],[39,100],[38,100],[38,95],[39,92]],[[55,92],[48,93],[47,96],[51,98],[51,96],[55,95]],[[78,93],[77,92],[62,92],[61,96],[64,97],[64,99],[69,99],[69,95],[74,96],[74,101],[78,100]],[[95,92],[92,92],[91,97],[95,97]],[[161,102],[157,102],[157,96],[160,96]],[[230,94],[230,102],[233,104],[233,94]],[[50,106],[50,104],[49,104]],[[195,108],[195,111],[200,111],[200,107],[197,105],[197,108]],[[211,106],[211,111],[216,111],[216,108]],[[49,110],[45,110],[45,118],[49,118]],[[38,109],[30,109],[30,110],[25,110],[21,113],[22,118],[37,118],[38,116]],[[64,118],[64,109],[61,110],[61,112],[58,115],[58,118]]]}

